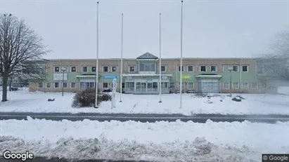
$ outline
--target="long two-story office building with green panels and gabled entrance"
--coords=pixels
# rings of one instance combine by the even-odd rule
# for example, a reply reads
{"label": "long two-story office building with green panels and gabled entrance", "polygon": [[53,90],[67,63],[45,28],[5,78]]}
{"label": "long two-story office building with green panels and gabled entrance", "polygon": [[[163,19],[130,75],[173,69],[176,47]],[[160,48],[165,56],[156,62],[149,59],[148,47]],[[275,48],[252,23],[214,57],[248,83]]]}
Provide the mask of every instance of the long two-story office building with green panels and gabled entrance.
{"label": "long two-story office building with green panels and gabled entrance", "polygon": [[[205,93],[259,93],[254,58],[159,58],[144,53],[138,58],[123,59],[122,83],[120,83],[120,59],[99,59],[98,88],[110,89],[113,79],[117,79],[124,93],[158,94],[161,73],[162,93],[178,92],[180,72],[184,92]],[[232,71],[229,72],[229,67]],[[76,92],[95,88],[95,59],[49,60],[46,65],[47,79],[41,83],[30,83],[30,91]]]}

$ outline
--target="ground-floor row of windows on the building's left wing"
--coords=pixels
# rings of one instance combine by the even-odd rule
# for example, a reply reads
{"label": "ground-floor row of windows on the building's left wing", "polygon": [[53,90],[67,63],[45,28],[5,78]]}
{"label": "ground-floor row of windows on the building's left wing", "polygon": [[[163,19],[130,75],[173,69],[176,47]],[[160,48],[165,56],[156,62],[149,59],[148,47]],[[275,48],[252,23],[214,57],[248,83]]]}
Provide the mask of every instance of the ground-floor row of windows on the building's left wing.
{"label": "ground-floor row of windows on the building's left wing", "polygon": [[[81,86],[82,83],[89,83],[89,87],[94,88],[94,82],[80,82]],[[63,88],[68,88],[68,83],[62,83]],[[60,88],[59,82],[54,82],[53,88]],[[109,83],[102,83],[103,88],[108,88]],[[44,88],[44,83],[38,83],[38,88]],[[46,88],[51,88],[51,83],[46,83]],[[70,83],[70,88],[76,88],[76,83]]]}

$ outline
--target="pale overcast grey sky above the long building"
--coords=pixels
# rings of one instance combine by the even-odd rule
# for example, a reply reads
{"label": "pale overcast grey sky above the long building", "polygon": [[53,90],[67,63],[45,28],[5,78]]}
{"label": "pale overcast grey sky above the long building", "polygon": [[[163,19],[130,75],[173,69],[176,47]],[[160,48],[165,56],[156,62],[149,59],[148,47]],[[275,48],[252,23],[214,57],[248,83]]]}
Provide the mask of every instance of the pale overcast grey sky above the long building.
{"label": "pale overcast grey sky above the long building", "polygon": [[[96,1],[5,1],[1,13],[23,18],[42,36],[45,58],[96,58]],[[124,13],[124,58],[149,52],[180,56],[181,1],[100,1],[99,58],[120,58]],[[269,53],[276,32],[289,26],[289,0],[184,1],[184,57],[256,57]]]}

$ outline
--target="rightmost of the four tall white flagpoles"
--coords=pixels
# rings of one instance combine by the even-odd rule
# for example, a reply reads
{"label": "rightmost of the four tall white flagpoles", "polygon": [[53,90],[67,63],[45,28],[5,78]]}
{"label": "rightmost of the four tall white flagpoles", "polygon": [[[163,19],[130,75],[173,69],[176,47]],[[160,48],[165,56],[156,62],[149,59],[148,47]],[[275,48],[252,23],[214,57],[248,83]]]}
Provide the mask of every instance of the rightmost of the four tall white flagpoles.
{"label": "rightmost of the four tall white flagpoles", "polygon": [[182,90],[183,90],[183,1],[181,1],[181,68],[179,74],[180,81],[180,109],[182,107]]}

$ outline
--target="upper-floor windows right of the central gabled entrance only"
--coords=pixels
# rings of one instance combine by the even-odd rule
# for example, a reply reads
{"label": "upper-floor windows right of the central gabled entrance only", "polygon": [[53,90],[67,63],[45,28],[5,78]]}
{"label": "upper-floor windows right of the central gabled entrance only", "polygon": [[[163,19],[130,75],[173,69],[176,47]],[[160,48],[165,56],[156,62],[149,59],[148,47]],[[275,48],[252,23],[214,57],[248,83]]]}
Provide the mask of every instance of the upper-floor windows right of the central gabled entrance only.
{"label": "upper-floor windows right of the central gabled entrance only", "polygon": [[[242,65],[241,69],[239,69],[239,65],[223,65],[223,72],[229,72],[229,67],[232,67],[232,72],[239,72],[239,70],[241,70],[241,72],[249,72],[249,68],[248,65]],[[184,66],[180,66],[178,67],[178,72],[184,72]],[[217,72],[217,65],[200,65],[199,68],[200,72]],[[166,72],[166,67],[162,66],[161,67],[161,72]],[[194,70],[194,65],[187,65],[186,66],[186,72],[195,72]]]}

